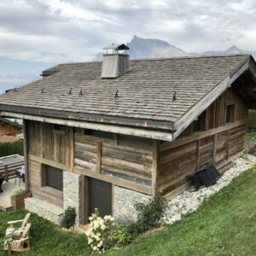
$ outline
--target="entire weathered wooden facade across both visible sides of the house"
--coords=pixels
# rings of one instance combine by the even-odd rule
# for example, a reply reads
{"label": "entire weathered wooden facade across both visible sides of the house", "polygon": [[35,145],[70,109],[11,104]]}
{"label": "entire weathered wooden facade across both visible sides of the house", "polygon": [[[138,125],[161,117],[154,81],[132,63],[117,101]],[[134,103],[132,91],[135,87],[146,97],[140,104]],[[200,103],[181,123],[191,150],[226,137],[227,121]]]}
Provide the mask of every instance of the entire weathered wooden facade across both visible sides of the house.
{"label": "entire weathered wooden facade across both visible sides of the house", "polygon": [[44,186],[44,166],[53,166],[147,195],[166,195],[202,166],[222,167],[241,154],[246,119],[245,103],[228,89],[201,113],[197,131],[191,124],[173,142],[26,121],[29,188],[62,206],[61,191]]}

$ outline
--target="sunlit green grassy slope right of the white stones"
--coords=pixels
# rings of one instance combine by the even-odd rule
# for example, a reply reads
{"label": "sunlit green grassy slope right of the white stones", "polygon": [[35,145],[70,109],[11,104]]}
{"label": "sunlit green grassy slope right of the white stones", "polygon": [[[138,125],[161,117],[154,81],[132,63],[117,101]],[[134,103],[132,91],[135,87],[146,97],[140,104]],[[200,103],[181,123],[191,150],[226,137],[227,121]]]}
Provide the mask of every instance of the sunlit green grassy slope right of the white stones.
{"label": "sunlit green grassy slope right of the white stones", "polygon": [[256,168],[182,221],[110,255],[256,255]]}

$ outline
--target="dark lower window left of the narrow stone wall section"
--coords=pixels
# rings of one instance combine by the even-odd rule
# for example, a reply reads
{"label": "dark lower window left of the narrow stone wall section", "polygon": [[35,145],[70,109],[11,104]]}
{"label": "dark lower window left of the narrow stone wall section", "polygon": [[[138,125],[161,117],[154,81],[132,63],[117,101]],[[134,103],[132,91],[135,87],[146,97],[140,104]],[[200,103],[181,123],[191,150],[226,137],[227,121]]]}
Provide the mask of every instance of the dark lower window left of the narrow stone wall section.
{"label": "dark lower window left of the narrow stone wall section", "polygon": [[63,172],[53,166],[43,165],[42,186],[63,191]]}

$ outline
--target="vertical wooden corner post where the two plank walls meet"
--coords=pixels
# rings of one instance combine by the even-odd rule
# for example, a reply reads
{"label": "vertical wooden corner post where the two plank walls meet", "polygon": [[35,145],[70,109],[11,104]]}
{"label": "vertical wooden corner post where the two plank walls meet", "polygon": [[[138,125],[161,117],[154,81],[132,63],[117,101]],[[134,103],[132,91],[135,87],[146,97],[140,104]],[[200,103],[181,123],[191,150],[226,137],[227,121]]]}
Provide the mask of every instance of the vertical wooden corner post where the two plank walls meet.
{"label": "vertical wooden corner post where the two plank walls meet", "polygon": [[153,140],[152,186],[151,186],[151,194],[153,196],[156,194],[158,189],[159,160],[160,160],[160,142],[158,140]]}

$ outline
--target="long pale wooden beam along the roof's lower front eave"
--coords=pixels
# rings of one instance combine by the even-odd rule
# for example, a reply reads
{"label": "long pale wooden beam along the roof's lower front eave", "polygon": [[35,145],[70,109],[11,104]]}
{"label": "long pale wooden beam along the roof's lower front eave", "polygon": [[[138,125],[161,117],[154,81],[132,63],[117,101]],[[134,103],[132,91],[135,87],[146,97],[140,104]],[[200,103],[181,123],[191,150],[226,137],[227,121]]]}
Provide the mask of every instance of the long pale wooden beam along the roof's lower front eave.
{"label": "long pale wooden beam along the roof's lower front eave", "polygon": [[23,113],[11,113],[11,112],[0,112],[0,116],[13,117],[17,119],[27,119],[32,121],[44,122],[55,125],[66,125],[83,129],[92,129],[97,131],[108,131],[118,134],[137,136],[137,137],[148,137],[151,139],[158,139],[163,141],[172,142],[172,131],[155,131],[147,130],[142,128],[125,127],[121,125],[106,125],[100,123],[90,123],[86,121],[75,121],[68,119],[55,119]]}

